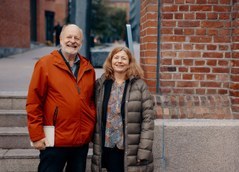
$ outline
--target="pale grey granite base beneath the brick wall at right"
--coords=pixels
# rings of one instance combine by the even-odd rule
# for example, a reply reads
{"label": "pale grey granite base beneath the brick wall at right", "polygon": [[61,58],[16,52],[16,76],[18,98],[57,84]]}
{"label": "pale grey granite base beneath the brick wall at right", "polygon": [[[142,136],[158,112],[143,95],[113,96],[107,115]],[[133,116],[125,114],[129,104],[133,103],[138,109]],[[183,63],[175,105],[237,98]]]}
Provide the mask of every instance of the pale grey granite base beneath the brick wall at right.
{"label": "pale grey granite base beneath the brick wall at right", "polygon": [[155,120],[155,172],[239,169],[239,120]]}

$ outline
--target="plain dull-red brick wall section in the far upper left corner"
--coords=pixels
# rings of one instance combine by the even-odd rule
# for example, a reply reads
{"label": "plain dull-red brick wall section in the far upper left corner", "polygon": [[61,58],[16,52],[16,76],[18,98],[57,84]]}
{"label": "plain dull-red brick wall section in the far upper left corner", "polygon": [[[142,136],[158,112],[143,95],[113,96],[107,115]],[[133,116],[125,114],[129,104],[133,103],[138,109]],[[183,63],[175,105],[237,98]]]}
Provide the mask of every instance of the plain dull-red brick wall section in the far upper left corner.
{"label": "plain dull-red brick wall section in the far upper left corner", "polygon": [[30,1],[1,0],[0,47],[29,48]]}

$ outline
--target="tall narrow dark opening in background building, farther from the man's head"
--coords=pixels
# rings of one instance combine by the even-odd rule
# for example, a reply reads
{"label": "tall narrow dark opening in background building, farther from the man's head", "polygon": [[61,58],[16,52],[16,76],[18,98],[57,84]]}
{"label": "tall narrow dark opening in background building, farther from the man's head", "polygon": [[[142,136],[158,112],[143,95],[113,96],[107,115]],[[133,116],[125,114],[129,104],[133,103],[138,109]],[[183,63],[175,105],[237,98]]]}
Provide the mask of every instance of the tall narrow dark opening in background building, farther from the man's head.
{"label": "tall narrow dark opening in background building, farther from the man's head", "polygon": [[37,41],[37,7],[36,7],[36,0],[31,0],[30,1],[30,10],[31,10],[31,27],[30,27],[30,32],[31,32],[31,41],[36,42]]}

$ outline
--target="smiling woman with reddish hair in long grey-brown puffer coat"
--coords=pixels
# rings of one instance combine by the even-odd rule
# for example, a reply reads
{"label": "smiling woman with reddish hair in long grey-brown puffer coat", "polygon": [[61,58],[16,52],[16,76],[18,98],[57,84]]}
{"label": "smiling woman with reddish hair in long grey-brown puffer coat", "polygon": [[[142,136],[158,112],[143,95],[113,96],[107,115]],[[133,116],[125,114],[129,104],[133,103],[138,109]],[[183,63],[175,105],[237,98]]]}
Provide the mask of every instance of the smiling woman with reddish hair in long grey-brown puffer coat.
{"label": "smiling woman with reddish hair in long grey-brown puffer coat", "polygon": [[96,81],[92,171],[152,172],[154,102],[127,47],[114,48]]}

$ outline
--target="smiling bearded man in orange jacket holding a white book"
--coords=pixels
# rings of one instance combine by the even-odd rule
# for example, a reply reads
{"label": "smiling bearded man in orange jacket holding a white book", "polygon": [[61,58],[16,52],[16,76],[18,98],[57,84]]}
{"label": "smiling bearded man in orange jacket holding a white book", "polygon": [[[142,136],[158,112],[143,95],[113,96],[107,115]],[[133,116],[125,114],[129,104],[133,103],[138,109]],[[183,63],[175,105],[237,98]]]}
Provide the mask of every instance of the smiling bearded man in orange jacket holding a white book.
{"label": "smiling bearded man in orange jacket holding a white book", "polygon": [[[30,139],[40,150],[39,172],[84,172],[88,144],[95,126],[95,71],[78,53],[82,30],[66,25],[60,34],[61,48],[35,65],[27,97]],[[49,144],[45,126],[54,132]]]}

